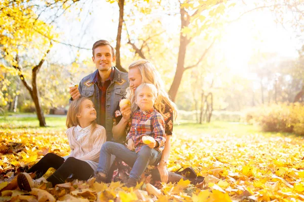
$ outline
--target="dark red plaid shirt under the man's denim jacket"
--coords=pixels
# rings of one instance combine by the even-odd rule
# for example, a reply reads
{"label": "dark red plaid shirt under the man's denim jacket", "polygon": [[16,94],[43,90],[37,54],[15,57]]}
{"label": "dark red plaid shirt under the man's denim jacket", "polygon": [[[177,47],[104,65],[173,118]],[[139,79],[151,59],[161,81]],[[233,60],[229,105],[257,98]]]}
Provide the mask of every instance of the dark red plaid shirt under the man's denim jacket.
{"label": "dark red plaid shirt under the man's denim jacket", "polygon": [[97,86],[99,88],[99,112],[97,114],[99,115],[100,125],[105,127],[105,98],[106,98],[106,89],[110,86],[113,78],[114,78],[114,71],[115,69],[112,67],[111,73],[109,77],[105,80],[105,82],[101,83],[101,79],[99,74],[96,74],[95,79],[93,80],[94,83],[97,83]]}

